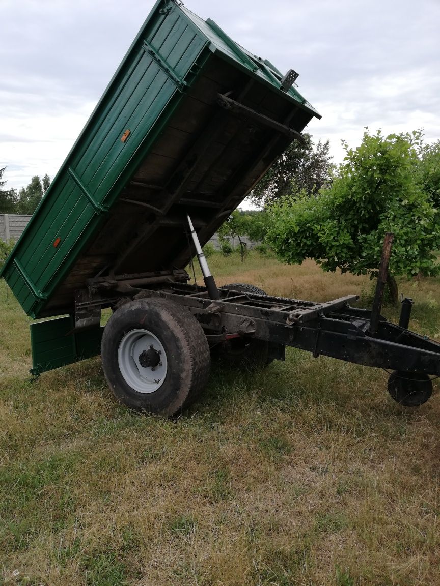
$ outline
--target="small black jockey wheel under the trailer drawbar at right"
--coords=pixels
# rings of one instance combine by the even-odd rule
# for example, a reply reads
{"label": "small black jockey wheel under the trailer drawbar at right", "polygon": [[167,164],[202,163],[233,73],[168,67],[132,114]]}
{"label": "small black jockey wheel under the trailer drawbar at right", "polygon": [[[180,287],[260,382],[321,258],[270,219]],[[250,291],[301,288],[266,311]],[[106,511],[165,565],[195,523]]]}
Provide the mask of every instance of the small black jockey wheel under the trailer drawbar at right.
{"label": "small black jockey wheel under the trailer drawbar at right", "polygon": [[388,379],[388,393],[404,407],[419,407],[432,394],[432,380],[428,374],[395,370]]}

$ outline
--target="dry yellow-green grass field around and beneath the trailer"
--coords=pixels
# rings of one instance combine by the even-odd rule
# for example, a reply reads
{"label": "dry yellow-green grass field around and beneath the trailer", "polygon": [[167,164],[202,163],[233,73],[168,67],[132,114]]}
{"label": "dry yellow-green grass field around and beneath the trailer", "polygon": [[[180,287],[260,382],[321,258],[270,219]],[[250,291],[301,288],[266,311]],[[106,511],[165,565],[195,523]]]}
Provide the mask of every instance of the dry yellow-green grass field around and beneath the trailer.
{"label": "dry yellow-green grass field around and beneath the trailer", "polygon": [[[368,278],[250,253],[219,284],[325,301]],[[440,339],[439,280],[401,281]],[[177,421],[114,401],[99,358],[31,381],[29,319],[0,282],[0,584],[440,584],[440,396],[405,409],[387,374],[289,349],[213,367]],[[395,309],[385,310],[397,319]]]}

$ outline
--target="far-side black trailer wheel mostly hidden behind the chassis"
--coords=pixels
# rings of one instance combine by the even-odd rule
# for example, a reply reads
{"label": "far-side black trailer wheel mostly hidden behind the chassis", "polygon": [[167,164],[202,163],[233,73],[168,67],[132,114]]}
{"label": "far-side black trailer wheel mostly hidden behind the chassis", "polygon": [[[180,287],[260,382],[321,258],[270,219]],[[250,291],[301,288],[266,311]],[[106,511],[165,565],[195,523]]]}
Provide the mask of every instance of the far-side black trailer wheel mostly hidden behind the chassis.
{"label": "far-side black trailer wheel mostly hidden behind the chassis", "polygon": [[[221,289],[266,295],[263,289],[247,283],[223,285]],[[213,359],[218,359],[220,362],[232,366],[232,368],[258,369],[273,362],[273,359],[269,358],[269,342],[244,337],[233,338],[216,345],[212,349],[211,356]]]}

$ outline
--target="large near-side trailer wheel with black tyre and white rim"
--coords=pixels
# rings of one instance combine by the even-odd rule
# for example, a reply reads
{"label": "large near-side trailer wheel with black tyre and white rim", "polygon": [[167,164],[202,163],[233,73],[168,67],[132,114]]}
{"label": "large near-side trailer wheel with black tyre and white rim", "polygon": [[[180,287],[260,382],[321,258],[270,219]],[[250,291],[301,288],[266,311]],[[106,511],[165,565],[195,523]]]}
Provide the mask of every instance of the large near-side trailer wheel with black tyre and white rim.
{"label": "large near-side trailer wheel with black tyre and white rim", "polygon": [[101,343],[104,374],[128,407],[171,417],[205,388],[211,359],[201,325],[168,299],[131,301],[111,316]]}

